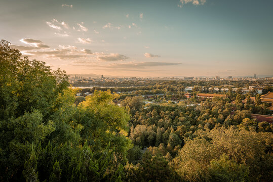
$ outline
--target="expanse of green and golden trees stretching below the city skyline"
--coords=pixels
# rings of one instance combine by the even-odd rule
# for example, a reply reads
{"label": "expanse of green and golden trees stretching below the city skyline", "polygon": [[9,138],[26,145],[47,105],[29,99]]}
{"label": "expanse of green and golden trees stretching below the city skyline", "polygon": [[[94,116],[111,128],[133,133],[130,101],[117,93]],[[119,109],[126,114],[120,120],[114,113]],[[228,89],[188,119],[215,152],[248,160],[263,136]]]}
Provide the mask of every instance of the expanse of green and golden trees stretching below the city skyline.
{"label": "expanse of green and golden trees stretching below the city skyline", "polygon": [[272,181],[273,125],[251,118],[268,114],[268,104],[231,90],[186,100],[192,84],[195,96],[201,85],[223,83],[79,90],[65,71],[2,40],[0,181]]}

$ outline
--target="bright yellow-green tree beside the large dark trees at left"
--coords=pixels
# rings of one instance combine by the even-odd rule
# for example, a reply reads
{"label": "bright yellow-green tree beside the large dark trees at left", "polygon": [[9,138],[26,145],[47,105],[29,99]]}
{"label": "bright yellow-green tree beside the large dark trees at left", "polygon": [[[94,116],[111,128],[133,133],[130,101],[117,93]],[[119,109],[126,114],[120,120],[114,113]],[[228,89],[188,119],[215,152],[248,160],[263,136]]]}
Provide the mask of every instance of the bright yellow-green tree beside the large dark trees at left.
{"label": "bright yellow-green tree beside the large dark trees at left", "polygon": [[123,107],[112,101],[118,95],[110,91],[97,91],[86,97],[77,106],[75,120],[83,126],[81,130],[82,142],[87,141],[94,150],[102,150],[110,143],[115,152],[125,159],[128,149],[132,147],[128,134],[127,123],[129,115]]}

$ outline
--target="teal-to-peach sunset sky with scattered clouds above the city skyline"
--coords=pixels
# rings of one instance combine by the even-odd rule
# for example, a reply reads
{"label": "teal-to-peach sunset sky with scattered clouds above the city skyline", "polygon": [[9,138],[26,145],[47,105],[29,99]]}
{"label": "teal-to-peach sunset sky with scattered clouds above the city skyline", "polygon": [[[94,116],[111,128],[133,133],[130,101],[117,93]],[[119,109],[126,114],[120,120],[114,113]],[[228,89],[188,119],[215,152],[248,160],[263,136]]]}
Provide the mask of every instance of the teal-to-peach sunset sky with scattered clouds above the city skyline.
{"label": "teal-to-peach sunset sky with scattered clouds above the city skyline", "polygon": [[0,39],[68,74],[273,76],[273,1],[0,0]]}

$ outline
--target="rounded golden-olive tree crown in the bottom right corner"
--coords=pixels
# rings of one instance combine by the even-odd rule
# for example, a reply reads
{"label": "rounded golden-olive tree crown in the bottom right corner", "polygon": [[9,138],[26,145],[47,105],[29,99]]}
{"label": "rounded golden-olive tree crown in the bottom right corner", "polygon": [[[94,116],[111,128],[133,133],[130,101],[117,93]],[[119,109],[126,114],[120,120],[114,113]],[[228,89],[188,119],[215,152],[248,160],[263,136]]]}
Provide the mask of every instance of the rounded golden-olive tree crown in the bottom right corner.
{"label": "rounded golden-olive tree crown in the bottom right corner", "polygon": [[171,165],[182,178],[203,181],[207,178],[209,166],[225,154],[233,162],[249,168],[248,180],[269,181],[273,161],[272,142],[272,133],[240,131],[232,127],[214,128],[188,140]]}

